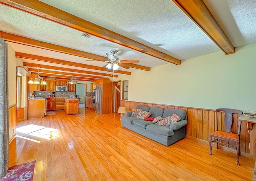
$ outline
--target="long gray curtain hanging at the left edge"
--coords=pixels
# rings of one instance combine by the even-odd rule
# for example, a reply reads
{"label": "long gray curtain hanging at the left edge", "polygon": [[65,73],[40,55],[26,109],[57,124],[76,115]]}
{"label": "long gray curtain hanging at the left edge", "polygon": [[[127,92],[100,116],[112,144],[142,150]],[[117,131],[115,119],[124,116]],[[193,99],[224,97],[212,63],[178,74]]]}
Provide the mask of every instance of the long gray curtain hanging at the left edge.
{"label": "long gray curtain hanging at the left edge", "polygon": [[0,38],[0,178],[8,170],[9,162],[9,102],[7,43]]}

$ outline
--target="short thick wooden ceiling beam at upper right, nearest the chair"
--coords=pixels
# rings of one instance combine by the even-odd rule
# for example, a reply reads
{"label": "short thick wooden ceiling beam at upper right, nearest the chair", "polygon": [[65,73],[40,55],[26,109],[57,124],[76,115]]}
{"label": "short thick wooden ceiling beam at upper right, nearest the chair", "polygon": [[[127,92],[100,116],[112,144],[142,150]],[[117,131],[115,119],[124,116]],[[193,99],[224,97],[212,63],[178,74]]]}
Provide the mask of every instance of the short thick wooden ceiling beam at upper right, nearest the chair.
{"label": "short thick wooden ceiling beam at upper right, nearest the chair", "polygon": [[235,48],[203,0],[172,0],[226,54]]}

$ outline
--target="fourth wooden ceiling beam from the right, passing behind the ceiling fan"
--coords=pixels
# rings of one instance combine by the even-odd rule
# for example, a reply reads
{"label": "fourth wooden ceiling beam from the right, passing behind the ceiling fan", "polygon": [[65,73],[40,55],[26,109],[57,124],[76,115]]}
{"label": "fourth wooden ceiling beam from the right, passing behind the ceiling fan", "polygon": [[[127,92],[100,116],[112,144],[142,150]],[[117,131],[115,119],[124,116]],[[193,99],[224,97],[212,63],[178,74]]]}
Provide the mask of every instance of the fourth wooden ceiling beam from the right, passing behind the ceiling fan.
{"label": "fourth wooden ceiling beam from the right, passing behind the ceiling fan", "polygon": [[[42,56],[38,56],[38,55],[31,55],[31,54],[27,54],[27,53],[15,52],[15,56],[18,58],[22,58],[22,59],[38,60],[38,61],[44,61],[44,62],[48,62],[48,63],[58,63],[61,65],[82,67],[82,68],[94,69],[94,70],[98,70],[98,71],[107,71],[106,68],[104,69],[102,67],[87,65],[87,64],[83,64],[83,63],[76,63],[76,62],[71,62],[71,61],[66,61],[66,60],[60,60],[60,59],[53,59],[53,58],[49,58],[49,57],[42,57]],[[108,70],[108,71],[111,71],[111,70]],[[120,70],[116,70],[116,71],[114,71],[114,73],[131,75],[131,72],[120,71]]]}

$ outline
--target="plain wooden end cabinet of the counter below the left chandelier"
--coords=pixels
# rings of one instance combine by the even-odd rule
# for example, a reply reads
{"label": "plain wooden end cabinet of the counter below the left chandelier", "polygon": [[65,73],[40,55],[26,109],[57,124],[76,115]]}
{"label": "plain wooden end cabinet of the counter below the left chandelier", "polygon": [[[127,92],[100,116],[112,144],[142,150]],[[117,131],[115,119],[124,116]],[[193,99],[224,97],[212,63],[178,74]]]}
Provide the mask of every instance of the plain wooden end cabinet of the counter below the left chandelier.
{"label": "plain wooden end cabinet of the counter below the left chandelier", "polygon": [[28,100],[28,118],[44,117],[45,101],[45,99]]}

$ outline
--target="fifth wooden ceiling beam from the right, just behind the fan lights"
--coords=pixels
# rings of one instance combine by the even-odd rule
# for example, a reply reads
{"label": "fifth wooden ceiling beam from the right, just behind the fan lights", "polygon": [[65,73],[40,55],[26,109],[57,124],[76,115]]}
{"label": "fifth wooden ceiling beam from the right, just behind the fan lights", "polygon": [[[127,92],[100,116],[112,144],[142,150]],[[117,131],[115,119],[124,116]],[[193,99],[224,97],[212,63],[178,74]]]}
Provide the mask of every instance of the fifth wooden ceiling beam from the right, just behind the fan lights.
{"label": "fifth wooden ceiling beam from the right, just behind the fan lights", "polygon": [[100,73],[100,72],[91,72],[91,71],[82,71],[78,69],[69,69],[69,68],[64,68],[64,67],[55,67],[55,66],[50,66],[50,65],[41,65],[37,63],[28,63],[28,62],[23,62],[23,66],[27,67],[40,67],[43,69],[52,69],[52,70],[58,70],[58,71],[68,71],[68,72],[76,72],[76,73],[87,73],[87,74],[93,74],[93,75],[102,75],[102,76],[108,76],[108,77],[118,77],[118,75],[111,75],[107,73]]}

